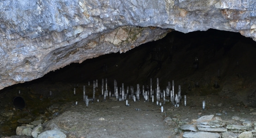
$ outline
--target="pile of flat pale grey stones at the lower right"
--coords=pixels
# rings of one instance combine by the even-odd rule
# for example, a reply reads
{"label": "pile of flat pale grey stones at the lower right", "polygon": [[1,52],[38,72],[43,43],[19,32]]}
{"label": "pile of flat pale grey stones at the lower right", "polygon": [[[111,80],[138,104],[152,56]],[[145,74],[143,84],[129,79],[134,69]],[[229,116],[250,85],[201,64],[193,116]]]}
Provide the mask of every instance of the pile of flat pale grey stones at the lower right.
{"label": "pile of flat pale grey stones at the lower right", "polygon": [[[170,120],[170,119],[169,119]],[[205,115],[183,124],[183,138],[256,138],[256,122],[237,116],[223,121],[219,116]]]}

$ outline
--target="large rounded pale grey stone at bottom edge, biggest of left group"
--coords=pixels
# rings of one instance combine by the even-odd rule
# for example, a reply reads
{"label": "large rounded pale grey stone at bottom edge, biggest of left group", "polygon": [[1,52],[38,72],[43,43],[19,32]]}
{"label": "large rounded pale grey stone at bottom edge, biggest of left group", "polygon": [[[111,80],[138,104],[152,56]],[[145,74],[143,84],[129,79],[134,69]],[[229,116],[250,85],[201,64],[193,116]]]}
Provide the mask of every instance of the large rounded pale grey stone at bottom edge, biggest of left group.
{"label": "large rounded pale grey stone at bottom edge, biggest of left group", "polygon": [[48,130],[45,132],[42,132],[38,135],[37,138],[66,138],[66,135],[61,132],[60,130],[54,129],[54,130]]}

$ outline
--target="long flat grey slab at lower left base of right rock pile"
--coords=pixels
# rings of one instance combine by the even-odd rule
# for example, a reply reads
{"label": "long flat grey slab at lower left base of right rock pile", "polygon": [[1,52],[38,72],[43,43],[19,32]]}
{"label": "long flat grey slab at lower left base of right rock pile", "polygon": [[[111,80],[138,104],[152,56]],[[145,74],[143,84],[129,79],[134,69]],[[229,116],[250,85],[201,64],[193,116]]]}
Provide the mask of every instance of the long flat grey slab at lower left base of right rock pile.
{"label": "long flat grey slab at lower left base of right rock pile", "polygon": [[184,132],[184,138],[220,138],[219,133],[213,132]]}

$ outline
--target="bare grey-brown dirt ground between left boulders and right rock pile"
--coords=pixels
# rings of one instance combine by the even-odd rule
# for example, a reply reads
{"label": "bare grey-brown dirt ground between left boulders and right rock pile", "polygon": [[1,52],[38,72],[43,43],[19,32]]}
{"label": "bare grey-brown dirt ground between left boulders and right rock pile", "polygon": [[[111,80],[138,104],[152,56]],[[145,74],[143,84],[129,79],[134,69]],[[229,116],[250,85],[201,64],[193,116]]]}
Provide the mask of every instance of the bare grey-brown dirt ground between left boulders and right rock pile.
{"label": "bare grey-brown dirt ground between left boulders and right rock pile", "polygon": [[[190,97],[187,100],[187,106],[181,105],[179,108],[167,102],[162,105],[163,113],[161,106],[144,100],[134,102],[129,99],[129,107],[125,106],[125,101],[103,101],[102,98],[88,107],[83,101],[78,101],[77,106],[71,102],[66,104],[67,109],[62,115],[44,126],[58,126],[68,138],[182,138],[180,125],[203,115],[220,116],[224,121],[232,121],[232,116],[256,121],[256,115],[250,115],[255,108],[233,105],[223,98],[206,96]],[[206,101],[206,110],[202,110],[202,100]],[[217,104],[220,103],[223,105],[219,107]],[[166,124],[163,121],[166,117],[171,117],[175,123]]]}

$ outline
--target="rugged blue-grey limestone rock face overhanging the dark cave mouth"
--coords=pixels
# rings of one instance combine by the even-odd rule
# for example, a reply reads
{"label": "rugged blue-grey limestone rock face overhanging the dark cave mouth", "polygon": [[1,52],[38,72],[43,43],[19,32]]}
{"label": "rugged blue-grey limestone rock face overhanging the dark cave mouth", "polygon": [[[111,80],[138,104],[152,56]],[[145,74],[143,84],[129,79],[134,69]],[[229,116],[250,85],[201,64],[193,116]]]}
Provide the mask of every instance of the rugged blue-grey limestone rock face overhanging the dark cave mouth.
{"label": "rugged blue-grey limestone rock face overhanging the dark cave mouth", "polygon": [[0,89],[69,63],[181,32],[219,29],[256,40],[255,0],[2,0]]}

